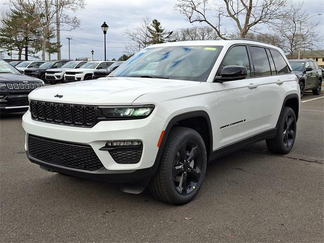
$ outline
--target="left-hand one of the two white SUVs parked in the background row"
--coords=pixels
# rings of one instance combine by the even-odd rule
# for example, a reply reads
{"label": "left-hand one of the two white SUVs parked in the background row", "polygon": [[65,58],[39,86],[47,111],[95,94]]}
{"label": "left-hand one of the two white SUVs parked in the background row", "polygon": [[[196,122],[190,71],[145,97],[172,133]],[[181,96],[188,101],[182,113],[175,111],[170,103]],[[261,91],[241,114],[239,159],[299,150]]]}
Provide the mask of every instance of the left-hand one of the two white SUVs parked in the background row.
{"label": "left-hand one of the two white SUVs parked in the background row", "polygon": [[64,74],[66,70],[80,68],[86,63],[87,63],[86,61],[71,61],[65,63],[60,68],[47,69],[45,79],[47,82],[51,83],[52,85],[61,83],[64,81]]}

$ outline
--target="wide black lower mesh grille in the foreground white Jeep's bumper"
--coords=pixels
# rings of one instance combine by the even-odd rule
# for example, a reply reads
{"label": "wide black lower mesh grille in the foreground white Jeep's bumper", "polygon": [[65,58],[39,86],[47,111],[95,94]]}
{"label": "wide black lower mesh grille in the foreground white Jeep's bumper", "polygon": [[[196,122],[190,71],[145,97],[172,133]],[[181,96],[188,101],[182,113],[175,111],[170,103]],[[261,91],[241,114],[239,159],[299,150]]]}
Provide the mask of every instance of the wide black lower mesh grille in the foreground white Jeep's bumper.
{"label": "wide black lower mesh grille in the foreground white Jeep's bumper", "polygon": [[68,168],[96,171],[103,167],[97,154],[89,145],[29,135],[28,152],[32,158]]}

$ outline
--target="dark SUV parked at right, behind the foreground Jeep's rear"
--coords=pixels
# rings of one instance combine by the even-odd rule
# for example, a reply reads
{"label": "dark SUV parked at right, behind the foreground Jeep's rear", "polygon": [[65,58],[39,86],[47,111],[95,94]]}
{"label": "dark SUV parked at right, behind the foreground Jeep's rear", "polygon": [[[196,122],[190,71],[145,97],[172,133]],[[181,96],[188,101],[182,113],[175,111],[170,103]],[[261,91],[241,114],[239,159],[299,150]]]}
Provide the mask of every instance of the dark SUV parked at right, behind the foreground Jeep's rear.
{"label": "dark SUV parked at right, behind the foreground Jeep's rear", "polygon": [[293,72],[299,79],[300,97],[311,90],[313,95],[319,95],[322,86],[322,72],[313,60],[289,60]]}

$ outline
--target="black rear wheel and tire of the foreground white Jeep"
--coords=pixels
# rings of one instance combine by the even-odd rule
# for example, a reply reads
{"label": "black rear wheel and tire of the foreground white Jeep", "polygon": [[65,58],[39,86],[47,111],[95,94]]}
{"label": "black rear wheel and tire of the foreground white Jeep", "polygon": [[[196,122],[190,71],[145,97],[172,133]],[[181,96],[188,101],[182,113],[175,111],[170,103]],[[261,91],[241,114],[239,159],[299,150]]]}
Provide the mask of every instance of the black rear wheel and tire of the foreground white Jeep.
{"label": "black rear wheel and tire of the foreground white Jeep", "polygon": [[266,140],[269,151],[276,154],[289,153],[294,146],[296,132],[297,123],[295,112],[290,107],[284,107],[275,138]]}

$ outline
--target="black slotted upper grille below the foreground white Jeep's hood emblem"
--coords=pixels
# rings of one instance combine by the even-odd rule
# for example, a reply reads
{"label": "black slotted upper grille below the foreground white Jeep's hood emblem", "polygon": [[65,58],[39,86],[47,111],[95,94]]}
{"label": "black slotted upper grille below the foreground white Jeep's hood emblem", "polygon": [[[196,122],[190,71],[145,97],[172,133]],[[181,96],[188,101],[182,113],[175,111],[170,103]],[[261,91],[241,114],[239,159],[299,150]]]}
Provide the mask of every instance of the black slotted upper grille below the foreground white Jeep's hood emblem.
{"label": "black slotted upper grille below the foreground white Jeep's hood emblem", "polygon": [[31,117],[47,123],[92,127],[96,123],[96,106],[30,101]]}

